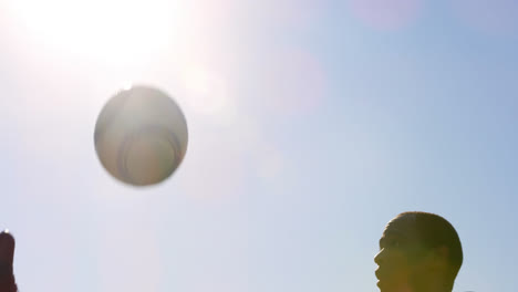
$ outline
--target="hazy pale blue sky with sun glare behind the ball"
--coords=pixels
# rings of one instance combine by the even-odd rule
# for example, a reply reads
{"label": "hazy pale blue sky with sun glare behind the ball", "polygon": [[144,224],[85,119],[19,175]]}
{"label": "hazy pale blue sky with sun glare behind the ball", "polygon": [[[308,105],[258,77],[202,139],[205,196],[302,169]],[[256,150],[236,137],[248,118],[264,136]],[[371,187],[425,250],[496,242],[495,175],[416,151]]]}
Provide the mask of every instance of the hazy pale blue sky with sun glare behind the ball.
{"label": "hazy pale blue sky with sun glare behind the ball", "polygon": [[[454,291],[514,291],[518,2],[0,0],[0,228],[21,291],[377,291],[397,213],[457,229]],[[183,108],[176,173],[93,144],[127,83]]]}

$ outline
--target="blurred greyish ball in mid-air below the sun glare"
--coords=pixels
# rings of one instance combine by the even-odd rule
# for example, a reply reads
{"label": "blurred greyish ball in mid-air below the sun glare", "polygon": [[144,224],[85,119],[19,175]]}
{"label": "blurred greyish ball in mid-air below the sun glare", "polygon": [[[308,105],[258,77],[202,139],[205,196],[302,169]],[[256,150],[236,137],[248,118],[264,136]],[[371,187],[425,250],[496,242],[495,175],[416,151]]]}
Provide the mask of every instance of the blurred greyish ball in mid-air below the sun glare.
{"label": "blurred greyish ball in mid-air below the sun glare", "polygon": [[134,186],[158,184],[180,165],[187,150],[187,123],[164,92],[133,86],[101,111],[94,143],[103,167]]}

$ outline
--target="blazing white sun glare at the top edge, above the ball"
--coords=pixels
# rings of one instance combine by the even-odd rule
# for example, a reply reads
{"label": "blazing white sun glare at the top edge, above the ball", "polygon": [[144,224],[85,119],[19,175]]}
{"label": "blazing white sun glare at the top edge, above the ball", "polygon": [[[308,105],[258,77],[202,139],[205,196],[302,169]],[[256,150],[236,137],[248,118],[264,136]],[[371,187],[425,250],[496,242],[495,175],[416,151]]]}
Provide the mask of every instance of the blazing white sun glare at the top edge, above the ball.
{"label": "blazing white sun glare at the top edge, above the ball", "polygon": [[32,38],[61,54],[95,62],[147,59],[175,40],[179,1],[13,0],[11,14]]}

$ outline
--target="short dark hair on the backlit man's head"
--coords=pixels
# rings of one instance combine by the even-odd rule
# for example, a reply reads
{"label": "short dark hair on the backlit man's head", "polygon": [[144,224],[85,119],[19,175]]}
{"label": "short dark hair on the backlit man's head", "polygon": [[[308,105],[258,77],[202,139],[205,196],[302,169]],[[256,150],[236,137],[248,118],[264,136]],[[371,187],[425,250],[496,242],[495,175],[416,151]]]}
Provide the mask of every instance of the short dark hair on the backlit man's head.
{"label": "short dark hair on the backlit man's head", "polygon": [[421,211],[402,212],[396,218],[413,216],[419,242],[428,249],[446,247],[448,249],[448,262],[450,272],[448,274],[450,284],[457,277],[463,265],[463,248],[457,231],[443,217]]}

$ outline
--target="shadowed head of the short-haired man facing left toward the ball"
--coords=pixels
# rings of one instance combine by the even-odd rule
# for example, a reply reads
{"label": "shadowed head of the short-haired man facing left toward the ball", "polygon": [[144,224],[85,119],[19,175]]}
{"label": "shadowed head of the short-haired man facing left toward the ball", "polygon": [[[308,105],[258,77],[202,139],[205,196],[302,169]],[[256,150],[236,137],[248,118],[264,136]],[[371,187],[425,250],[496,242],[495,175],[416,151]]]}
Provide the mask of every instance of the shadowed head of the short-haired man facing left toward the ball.
{"label": "shadowed head of the short-haired man facing left toward the ball", "polygon": [[454,227],[427,212],[403,212],[380,239],[376,278],[381,292],[452,291],[463,263]]}

